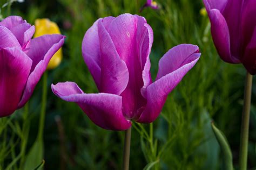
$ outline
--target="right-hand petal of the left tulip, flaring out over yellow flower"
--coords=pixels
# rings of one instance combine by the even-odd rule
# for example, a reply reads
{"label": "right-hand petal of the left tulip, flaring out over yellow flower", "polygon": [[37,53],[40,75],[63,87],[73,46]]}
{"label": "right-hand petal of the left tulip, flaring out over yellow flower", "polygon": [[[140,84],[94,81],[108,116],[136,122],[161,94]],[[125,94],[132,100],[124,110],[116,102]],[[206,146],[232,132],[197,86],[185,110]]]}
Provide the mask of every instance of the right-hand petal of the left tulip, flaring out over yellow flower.
{"label": "right-hand petal of the left tulip, flaring out over yellow flower", "polygon": [[23,107],[31,97],[53,54],[64,44],[64,39],[65,37],[60,34],[52,34],[31,40],[28,56],[33,62],[22,100],[18,104],[19,108]]}

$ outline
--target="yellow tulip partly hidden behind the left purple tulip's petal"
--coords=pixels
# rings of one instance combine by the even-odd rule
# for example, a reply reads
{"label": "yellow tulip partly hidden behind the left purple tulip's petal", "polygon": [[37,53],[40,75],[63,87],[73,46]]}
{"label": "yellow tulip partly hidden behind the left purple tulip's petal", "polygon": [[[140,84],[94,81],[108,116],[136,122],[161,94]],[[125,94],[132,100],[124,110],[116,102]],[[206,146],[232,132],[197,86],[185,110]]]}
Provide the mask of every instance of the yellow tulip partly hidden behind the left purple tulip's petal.
{"label": "yellow tulip partly hidden behind the left purple tulip's petal", "polygon": [[[51,22],[47,18],[36,19],[35,22],[36,31],[34,37],[40,37],[45,34],[60,34],[59,27],[56,23]],[[56,68],[62,61],[62,48],[60,48],[51,58],[47,69]]]}

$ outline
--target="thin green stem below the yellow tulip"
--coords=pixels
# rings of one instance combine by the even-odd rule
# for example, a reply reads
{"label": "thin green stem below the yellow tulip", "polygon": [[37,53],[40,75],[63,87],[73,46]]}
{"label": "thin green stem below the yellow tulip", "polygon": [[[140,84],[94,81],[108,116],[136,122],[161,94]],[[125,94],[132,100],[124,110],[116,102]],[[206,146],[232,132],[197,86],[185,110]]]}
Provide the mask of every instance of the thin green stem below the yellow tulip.
{"label": "thin green stem below the yellow tulip", "polygon": [[40,113],[40,119],[39,119],[38,136],[37,136],[38,139],[43,139],[46,98],[47,98],[47,71],[43,75],[43,94],[42,94],[41,113]]}

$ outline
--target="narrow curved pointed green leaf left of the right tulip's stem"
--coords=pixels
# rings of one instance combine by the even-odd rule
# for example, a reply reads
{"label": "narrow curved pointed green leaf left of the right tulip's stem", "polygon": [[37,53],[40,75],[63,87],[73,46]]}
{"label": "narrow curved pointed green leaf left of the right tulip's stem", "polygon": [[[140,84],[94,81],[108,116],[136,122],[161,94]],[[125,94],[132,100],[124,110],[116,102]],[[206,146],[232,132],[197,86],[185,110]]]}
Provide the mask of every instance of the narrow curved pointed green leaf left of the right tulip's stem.
{"label": "narrow curved pointed green leaf left of the right tulip's stem", "polygon": [[230,146],[228,145],[227,139],[223,132],[221,132],[212,122],[212,130],[215,134],[216,139],[220,145],[220,150],[223,153],[224,166],[226,170],[233,170],[232,153]]}

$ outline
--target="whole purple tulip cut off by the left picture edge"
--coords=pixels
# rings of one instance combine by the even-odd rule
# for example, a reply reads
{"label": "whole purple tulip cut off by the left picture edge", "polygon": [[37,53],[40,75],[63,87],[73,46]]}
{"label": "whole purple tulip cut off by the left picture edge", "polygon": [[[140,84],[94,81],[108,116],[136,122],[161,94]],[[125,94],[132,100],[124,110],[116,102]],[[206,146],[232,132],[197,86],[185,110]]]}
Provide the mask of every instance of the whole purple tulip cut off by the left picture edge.
{"label": "whole purple tulip cut off by the left picture edge", "polygon": [[34,32],[35,26],[18,16],[0,22],[0,117],[23,107],[64,43],[57,34],[31,39]]}

